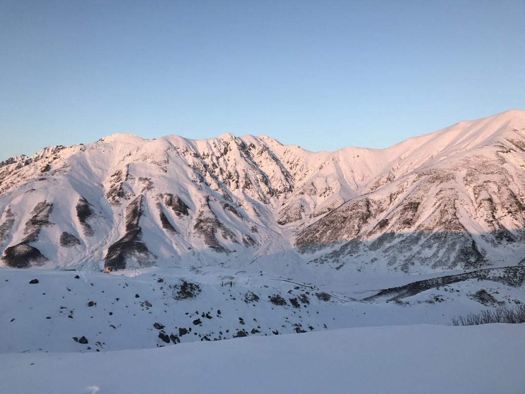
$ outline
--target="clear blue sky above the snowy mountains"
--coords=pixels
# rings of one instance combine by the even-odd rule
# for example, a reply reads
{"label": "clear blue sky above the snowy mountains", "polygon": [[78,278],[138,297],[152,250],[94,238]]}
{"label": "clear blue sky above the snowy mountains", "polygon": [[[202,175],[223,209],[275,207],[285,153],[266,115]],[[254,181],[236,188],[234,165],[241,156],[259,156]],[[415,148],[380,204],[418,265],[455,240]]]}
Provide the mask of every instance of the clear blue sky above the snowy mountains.
{"label": "clear blue sky above the snowy mountains", "polygon": [[117,132],[385,148],[525,109],[525,0],[0,0],[0,160]]}

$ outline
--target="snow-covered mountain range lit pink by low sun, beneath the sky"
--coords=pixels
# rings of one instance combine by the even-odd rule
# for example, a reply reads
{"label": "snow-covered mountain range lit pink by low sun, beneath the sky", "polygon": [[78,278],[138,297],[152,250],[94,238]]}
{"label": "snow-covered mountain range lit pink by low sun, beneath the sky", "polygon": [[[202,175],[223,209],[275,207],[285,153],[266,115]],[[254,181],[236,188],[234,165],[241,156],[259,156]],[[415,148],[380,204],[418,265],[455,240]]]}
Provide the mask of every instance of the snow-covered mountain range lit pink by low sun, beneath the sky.
{"label": "snow-covered mountain range lit pink by low sun, beneath the sky", "polygon": [[523,168],[517,110],[384,150],[114,134],[0,163],[1,262],[347,275],[524,264]]}

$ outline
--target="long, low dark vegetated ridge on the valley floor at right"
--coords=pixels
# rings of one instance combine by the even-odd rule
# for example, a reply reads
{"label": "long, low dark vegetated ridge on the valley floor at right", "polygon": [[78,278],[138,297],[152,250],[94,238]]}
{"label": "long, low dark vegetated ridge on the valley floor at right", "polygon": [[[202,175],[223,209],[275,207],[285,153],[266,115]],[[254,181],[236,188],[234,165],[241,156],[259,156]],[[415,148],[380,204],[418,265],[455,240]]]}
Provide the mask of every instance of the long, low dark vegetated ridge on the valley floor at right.
{"label": "long, low dark vegetated ridge on the valley floor at right", "polygon": [[405,297],[411,297],[431,288],[463,282],[467,281],[468,279],[493,281],[511,287],[519,287],[525,283],[525,267],[512,266],[502,268],[485,268],[478,269],[477,271],[466,272],[464,274],[440,276],[438,278],[409,283],[404,286],[387,288],[377,294],[374,294],[373,296],[366,297],[363,300],[372,301],[380,297],[390,297],[388,300],[397,300]]}

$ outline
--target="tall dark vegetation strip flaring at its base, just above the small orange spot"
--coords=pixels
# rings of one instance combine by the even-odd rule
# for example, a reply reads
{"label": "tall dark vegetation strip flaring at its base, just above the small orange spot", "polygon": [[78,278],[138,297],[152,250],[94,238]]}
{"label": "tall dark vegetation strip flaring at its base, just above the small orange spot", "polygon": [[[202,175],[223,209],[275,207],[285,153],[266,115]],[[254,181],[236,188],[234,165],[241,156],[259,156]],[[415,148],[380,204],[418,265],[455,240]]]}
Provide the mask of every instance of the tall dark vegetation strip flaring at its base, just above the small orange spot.
{"label": "tall dark vegetation strip flaring at its base, just above the small orange spot", "polygon": [[126,233],[108,248],[104,257],[104,267],[112,270],[124,269],[127,260],[135,260],[141,267],[151,266],[156,256],[148,250],[141,240],[142,229],[139,219],[142,214],[142,194],[134,199],[126,208]]}

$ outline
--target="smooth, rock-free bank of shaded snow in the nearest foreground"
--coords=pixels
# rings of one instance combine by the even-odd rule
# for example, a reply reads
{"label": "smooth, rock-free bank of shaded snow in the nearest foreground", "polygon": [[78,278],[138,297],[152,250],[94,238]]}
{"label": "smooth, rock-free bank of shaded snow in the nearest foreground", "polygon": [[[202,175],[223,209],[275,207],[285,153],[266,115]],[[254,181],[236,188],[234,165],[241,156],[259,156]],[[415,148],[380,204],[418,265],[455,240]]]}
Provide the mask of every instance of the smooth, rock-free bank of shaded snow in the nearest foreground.
{"label": "smooth, rock-free bank of shaded snow in the nearest foreground", "polygon": [[525,392],[525,325],[392,326],[96,354],[1,354],[0,392]]}

